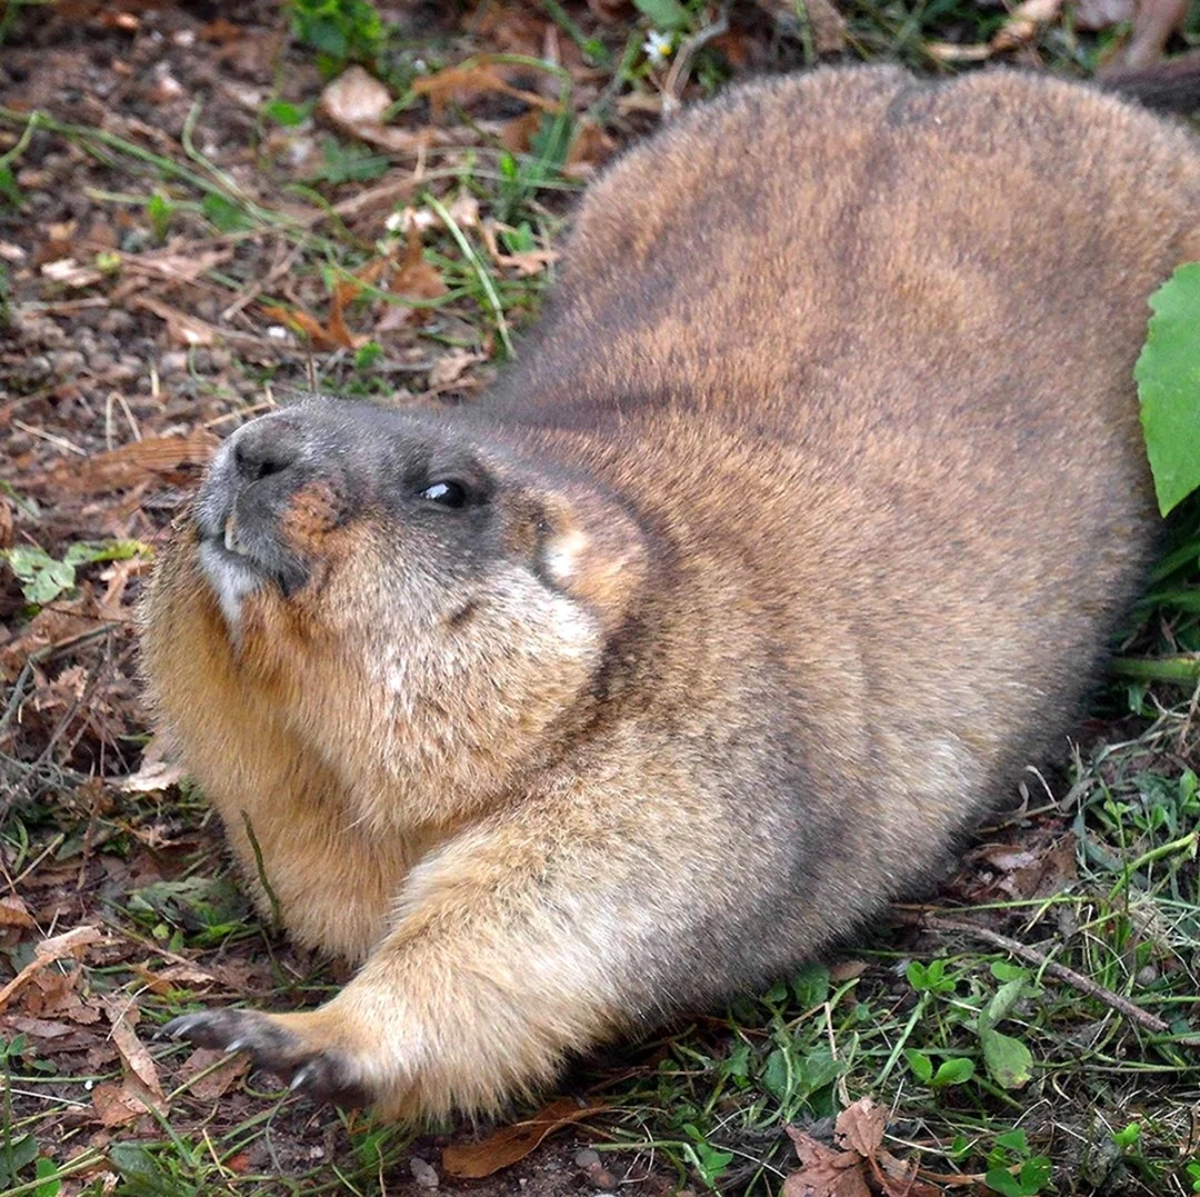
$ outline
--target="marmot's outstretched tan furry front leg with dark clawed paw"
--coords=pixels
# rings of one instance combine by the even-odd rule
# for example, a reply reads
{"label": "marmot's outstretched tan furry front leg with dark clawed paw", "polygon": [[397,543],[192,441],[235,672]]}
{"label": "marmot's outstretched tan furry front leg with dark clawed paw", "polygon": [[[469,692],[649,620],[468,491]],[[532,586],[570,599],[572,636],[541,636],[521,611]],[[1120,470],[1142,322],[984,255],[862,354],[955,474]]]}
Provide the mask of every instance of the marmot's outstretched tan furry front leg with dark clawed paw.
{"label": "marmot's outstretched tan furry front leg with dark clawed paw", "polygon": [[[628,824],[587,821],[578,806],[526,808],[422,861],[394,929],[324,1006],[216,1010],[168,1031],[246,1051],[295,1088],[384,1118],[496,1111],[572,1049],[650,1013],[664,958],[688,954],[672,940],[691,920],[659,852]],[[670,867],[676,882],[686,872],[678,857]]]}

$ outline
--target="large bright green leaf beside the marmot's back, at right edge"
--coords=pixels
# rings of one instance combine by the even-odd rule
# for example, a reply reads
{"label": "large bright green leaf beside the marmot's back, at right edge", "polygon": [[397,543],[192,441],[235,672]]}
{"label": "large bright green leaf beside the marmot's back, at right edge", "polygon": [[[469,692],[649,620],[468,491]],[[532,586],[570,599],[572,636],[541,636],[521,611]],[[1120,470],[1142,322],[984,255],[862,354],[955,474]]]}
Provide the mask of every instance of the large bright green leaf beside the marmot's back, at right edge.
{"label": "large bright green leaf beside the marmot's back, at right edge", "polygon": [[1158,509],[1166,515],[1200,486],[1200,262],[1180,267],[1150,306],[1133,373]]}

